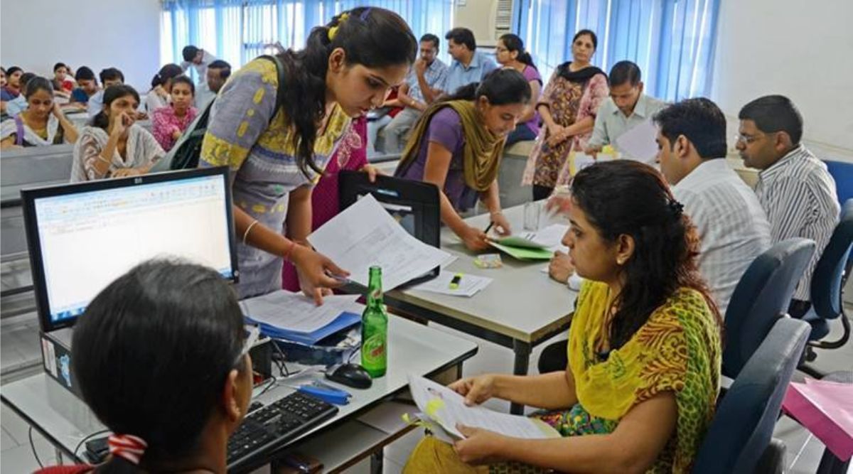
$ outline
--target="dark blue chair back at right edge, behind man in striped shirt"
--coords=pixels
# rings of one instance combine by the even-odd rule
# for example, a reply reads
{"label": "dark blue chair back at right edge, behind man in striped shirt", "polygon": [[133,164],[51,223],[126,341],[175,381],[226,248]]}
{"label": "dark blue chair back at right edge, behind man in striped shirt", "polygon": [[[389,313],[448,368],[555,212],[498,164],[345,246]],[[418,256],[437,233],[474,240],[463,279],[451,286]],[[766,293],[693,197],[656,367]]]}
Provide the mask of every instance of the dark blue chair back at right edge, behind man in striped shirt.
{"label": "dark blue chair back at right edge, behind man in striped shirt", "polygon": [[811,277],[811,303],[821,318],[835,319],[841,315],[841,289],[845,275],[850,275],[850,247],[853,246],[853,199],[841,208],[841,219],[823,249],[821,259]]}

